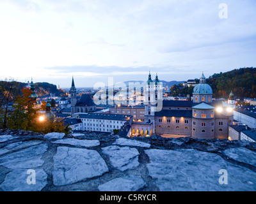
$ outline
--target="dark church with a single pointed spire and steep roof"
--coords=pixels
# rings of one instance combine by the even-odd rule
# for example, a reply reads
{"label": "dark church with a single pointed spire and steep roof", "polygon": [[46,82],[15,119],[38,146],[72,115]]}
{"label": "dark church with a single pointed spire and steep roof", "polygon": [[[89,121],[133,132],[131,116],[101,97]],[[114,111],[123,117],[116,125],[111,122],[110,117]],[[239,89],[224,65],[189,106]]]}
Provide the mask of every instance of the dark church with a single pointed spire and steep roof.
{"label": "dark church with a single pointed spire and steep roof", "polygon": [[70,88],[71,115],[74,113],[88,113],[96,110],[96,105],[89,94],[82,94],[77,100],[74,77]]}

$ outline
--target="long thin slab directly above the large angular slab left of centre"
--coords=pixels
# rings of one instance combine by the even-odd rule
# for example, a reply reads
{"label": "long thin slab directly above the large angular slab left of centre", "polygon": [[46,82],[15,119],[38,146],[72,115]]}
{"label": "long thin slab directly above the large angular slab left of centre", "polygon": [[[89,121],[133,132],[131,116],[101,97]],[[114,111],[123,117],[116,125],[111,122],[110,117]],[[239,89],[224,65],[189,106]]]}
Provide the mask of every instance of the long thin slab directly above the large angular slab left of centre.
{"label": "long thin slab directly above the large angular slab left of centre", "polygon": [[74,146],[77,146],[77,147],[95,147],[95,146],[100,145],[99,140],[77,140],[77,139],[74,139],[74,138],[56,140],[52,143],[68,144],[68,145],[74,145]]}

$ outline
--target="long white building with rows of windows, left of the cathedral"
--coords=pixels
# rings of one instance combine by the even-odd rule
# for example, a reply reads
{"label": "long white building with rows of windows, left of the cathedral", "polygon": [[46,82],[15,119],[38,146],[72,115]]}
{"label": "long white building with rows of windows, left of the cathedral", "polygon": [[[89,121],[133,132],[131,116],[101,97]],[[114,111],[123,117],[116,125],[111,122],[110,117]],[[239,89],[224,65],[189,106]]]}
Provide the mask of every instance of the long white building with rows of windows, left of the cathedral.
{"label": "long white building with rows of windows, left of the cathedral", "polygon": [[113,132],[113,129],[121,129],[125,122],[131,125],[132,115],[88,113],[78,115],[83,122],[83,131]]}

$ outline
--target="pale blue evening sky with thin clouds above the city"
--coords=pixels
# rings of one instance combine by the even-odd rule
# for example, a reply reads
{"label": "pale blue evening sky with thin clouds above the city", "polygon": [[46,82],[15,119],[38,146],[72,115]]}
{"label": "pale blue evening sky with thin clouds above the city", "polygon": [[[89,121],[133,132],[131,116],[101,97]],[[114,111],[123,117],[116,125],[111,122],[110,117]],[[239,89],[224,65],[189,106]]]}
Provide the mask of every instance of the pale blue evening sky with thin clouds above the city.
{"label": "pale blue evening sky with thin clouds above the city", "polygon": [[256,67],[255,10],[255,0],[0,0],[0,80],[64,88],[73,75],[93,87]]}

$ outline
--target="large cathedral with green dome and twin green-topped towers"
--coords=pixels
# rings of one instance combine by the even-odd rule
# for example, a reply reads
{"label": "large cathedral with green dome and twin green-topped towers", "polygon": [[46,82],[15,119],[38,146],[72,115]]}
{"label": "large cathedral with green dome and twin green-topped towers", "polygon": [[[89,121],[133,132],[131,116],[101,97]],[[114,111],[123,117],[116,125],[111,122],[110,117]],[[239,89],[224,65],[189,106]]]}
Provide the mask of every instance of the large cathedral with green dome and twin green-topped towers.
{"label": "large cathedral with green dome and twin green-topped towers", "polygon": [[[148,89],[159,90],[158,77],[155,82],[148,75]],[[159,94],[150,92],[145,96],[157,100]],[[232,99],[232,97],[230,97]],[[191,101],[163,100],[163,106],[157,111],[157,105],[145,104],[145,122],[132,122],[130,135],[180,135],[195,138],[228,137],[228,126],[233,123],[233,106],[224,101],[212,101],[212,88],[206,84],[204,73],[200,83],[193,89]]]}

